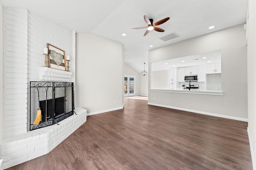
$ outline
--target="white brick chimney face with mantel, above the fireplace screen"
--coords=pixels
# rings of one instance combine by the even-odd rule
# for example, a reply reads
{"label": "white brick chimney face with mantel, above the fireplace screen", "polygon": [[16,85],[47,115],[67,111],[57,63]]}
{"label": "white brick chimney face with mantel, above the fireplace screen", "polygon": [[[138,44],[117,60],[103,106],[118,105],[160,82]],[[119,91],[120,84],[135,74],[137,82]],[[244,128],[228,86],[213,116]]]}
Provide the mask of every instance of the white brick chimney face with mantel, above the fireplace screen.
{"label": "white brick chimney face with mantel, above the fireplace screen", "polygon": [[[75,82],[75,37],[75,31],[68,30],[58,24],[28,12],[28,51],[30,51],[28,61],[31,63],[28,65],[28,92],[30,81]],[[51,45],[64,50],[65,55],[70,55],[70,72],[44,67],[45,58],[43,55],[43,49],[46,47],[46,43],[50,43]],[[29,93],[27,98],[27,122],[29,123]],[[38,103],[36,103],[36,105],[38,105]],[[27,129],[29,130],[29,124],[27,125]]]}

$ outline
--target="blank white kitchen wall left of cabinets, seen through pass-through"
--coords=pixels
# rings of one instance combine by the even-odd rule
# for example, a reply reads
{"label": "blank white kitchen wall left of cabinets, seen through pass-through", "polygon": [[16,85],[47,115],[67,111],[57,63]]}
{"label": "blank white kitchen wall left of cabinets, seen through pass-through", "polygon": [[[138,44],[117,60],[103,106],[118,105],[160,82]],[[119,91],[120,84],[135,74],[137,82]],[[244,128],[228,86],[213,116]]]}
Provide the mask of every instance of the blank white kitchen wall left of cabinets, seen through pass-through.
{"label": "blank white kitchen wall left of cabinets, seen through pass-through", "polygon": [[169,89],[169,71],[151,72],[151,89]]}

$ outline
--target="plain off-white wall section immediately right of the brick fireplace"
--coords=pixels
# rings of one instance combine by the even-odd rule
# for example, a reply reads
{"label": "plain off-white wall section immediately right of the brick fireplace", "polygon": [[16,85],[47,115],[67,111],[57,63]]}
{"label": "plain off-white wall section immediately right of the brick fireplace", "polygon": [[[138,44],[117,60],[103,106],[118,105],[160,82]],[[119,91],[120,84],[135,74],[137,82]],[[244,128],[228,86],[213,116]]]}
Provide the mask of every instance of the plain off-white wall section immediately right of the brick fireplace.
{"label": "plain off-white wall section immediately right of the brick fireplace", "polygon": [[76,107],[87,115],[122,109],[124,55],[121,43],[92,33],[76,34]]}

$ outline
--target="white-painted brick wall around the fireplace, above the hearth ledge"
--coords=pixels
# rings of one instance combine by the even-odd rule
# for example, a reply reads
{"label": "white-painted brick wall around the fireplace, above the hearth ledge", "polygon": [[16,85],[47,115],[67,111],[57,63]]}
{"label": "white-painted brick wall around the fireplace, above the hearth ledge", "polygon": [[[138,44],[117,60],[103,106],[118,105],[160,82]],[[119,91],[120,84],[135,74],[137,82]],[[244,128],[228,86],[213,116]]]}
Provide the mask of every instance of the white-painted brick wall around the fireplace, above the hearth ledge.
{"label": "white-painted brick wall around the fireplace, above the hearth ledge", "polygon": [[[70,72],[43,67],[46,43],[70,55]],[[4,137],[29,129],[29,82],[42,80],[75,82],[75,32],[26,9],[4,8]]]}

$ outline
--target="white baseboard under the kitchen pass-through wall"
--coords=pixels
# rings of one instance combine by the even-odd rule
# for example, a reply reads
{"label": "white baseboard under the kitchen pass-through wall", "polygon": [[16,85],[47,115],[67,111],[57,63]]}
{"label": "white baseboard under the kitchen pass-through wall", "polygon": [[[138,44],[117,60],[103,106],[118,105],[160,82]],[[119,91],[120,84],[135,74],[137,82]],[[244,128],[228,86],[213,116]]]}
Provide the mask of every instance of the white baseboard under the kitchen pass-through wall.
{"label": "white baseboard under the kitchen pass-through wall", "polygon": [[215,114],[215,113],[208,113],[208,112],[202,112],[202,111],[195,111],[195,110],[184,109],[184,108],[180,108],[180,107],[172,107],[172,106],[166,106],[166,105],[158,105],[158,104],[155,104],[155,103],[148,103],[148,105],[166,107],[166,108],[170,108],[170,109],[177,109],[177,110],[181,110],[181,111],[188,111],[188,112],[199,113],[199,114],[202,114],[202,115],[209,115],[209,116],[222,117],[222,118],[226,118],[226,119],[233,119],[233,120],[237,120],[237,121],[248,122],[248,119],[244,119],[244,118],[240,118],[240,117],[232,117],[232,116],[226,116],[226,115],[219,115],[219,114]]}

